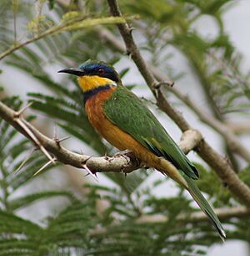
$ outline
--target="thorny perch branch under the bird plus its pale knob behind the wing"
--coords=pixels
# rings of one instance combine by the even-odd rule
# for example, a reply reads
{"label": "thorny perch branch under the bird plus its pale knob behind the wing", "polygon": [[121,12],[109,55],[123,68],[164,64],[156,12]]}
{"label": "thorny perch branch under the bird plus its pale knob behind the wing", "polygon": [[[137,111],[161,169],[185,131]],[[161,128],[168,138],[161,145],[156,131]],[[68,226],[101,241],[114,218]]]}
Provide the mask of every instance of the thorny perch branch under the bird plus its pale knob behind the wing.
{"label": "thorny perch branch under the bird plus its pale knob behind the wing", "polygon": [[[124,172],[129,173],[138,170],[139,167],[143,167],[138,159],[131,156],[126,152],[118,153],[115,156],[108,157],[92,157],[87,155],[80,155],[72,151],[68,151],[66,148],[61,146],[58,139],[50,139],[38,131],[34,126],[28,123],[27,120],[20,117],[21,111],[14,111],[4,105],[0,101],[0,116],[7,121],[10,125],[26,136],[37,146],[41,151],[44,148],[50,154],[55,157],[56,161],[60,161],[64,164],[74,166],[77,168],[85,168],[90,170],[92,173],[96,172]],[[24,125],[23,125],[24,124]],[[25,128],[27,127],[27,128]],[[199,142],[201,137],[195,131],[187,131],[183,134],[181,141],[181,147],[188,153],[196,146],[194,141]],[[43,151],[44,152],[44,151]],[[46,155],[48,153],[45,153]],[[48,156],[50,162],[53,161],[52,156]]]}

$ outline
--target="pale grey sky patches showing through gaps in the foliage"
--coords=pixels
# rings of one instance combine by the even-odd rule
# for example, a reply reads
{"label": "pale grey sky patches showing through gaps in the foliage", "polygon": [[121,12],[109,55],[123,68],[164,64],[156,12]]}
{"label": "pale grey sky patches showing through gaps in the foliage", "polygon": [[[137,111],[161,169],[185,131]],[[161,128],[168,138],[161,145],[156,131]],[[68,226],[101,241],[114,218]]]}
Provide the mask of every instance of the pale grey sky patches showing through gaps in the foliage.
{"label": "pale grey sky patches showing through gaps in the foliage", "polygon": [[[233,8],[230,8],[228,12],[223,16],[223,20],[225,22],[225,28],[226,31],[229,33],[231,40],[233,41],[233,44],[236,46],[239,52],[243,54],[243,69],[248,70],[250,67],[250,30],[249,30],[249,24],[250,24],[250,1],[249,0],[242,0],[242,1],[235,1],[235,6]],[[195,24],[195,28],[198,29],[199,33],[203,34],[205,37],[209,36],[210,38],[213,38],[214,35],[217,34],[217,29],[215,26],[215,23],[212,18],[208,18],[204,16],[203,18],[199,19],[198,22]],[[82,60],[84,61],[84,60]],[[184,71],[186,73],[186,77],[180,81],[178,81],[175,86],[178,86],[178,88],[182,89],[182,91],[188,95],[190,95],[190,92],[192,92],[193,99],[197,100],[197,104],[201,106],[201,108],[205,108],[205,100],[203,96],[201,96],[201,92],[197,90],[197,82],[196,79],[193,77],[191,73],[191,69],[188,67],[187,61],[183,58],[182,55],[175,53],[175,58],[173,59],[173,64],[176,64],[176,67],[178,67],[179,71]],[[133,71],[127,75],[124,78],[124,84],[129,83],[139,83],[143,84],[143,79],[141,75],[137,75],[137,71],[134,68],[132,62],[128,62],[128,60],[121,61],[119,64],[117,64],[116,68],[117,70],[121,70],[125,67],[131,66]],[[0,66],[2,68],[2,66]],[[53,74],[53,77],[55,79],[62,79],[62,76],[60,74],[57,74],[56,71],[62,67],[52,67],[51,74]],[[131,78],[133,78],[133,81],[131,81]],[[20,84],[20,81],[22,80],[22,85]],[[23,82],[25,81],[25,83]],[[10,95],[21,95],[24,99],[27,99],[26,94],[28,91],[37,91],[42,90],[45,91],[43,87],[39,86],[39,84],[33,84],[32,79],[29,79],[27,76],[18,73],[16,69],[11,68],[4,68],[4,74],[1,75],[1,82],[2,84],[6,84],[6,90],[8,94]],[[32,82],[32,83],[31,83]],[[145,87],[146,88],[146,87]],[[135,93],[138,95],[150,95],[148,93],[148,90],[142,90],[141,88],[134,90]],[[219,139],[219,136],[217,136],[211,129],[209,129],[206,125],[202,125],[198,122],[196,117],[193,115],[193,113],[186,108],[178,107],[179,110],[183,111],[183,115],[186,119],[190,121],[190,123],[193,124],[193,127],[198,128],[200,131],[202,131],[205,138],[209,138],[209,143],[217,150],[222,150],[222,144]],[[38,115],[38,119],[42,119],[41,116]],[[169,133],[173,136],[175,141],[179,141],[179,138],[181,136],[181,132],[178,130],[177,126],[173,124],[173,121],[170,120],[166,115],[159,116],[159,119],[162,121],[163,125],[167,128]],[[249,145],[249,140],[244,140],[243,143],[246,145]],[[87,150],[87,153],[91,155],[92,151],[89,149],[84,149],[81,143],[73,139],[72,141],[67,142],[68,148],[82,148],[83,151]],[[190,153],[188,155],[191,159],[199,159],[198,156],[196,156],[195,153]],[[200,161],[200,160],[199,160]],[[80,173],[80,172],[79,172]],[[62,172],[60,172],[61,176],[58,175],[58,172],[50,173],[50,177],[54,177],[57,179],[58,184],[60,184],[61,187],[62,183],[65,182],[63,179]],[[82,176],[82,175],[81,175]],[[161,177],[160,174],[157,172],[153,174],[152,177],[147,181],[152,182],[153,180]],[[107,178],[103,177],[102,175],[99,176],[99,182],[104,184],[110,184],[111,183],[107,180]],[[145,182],[146,183],[146,182]],[[54,182],[51,184],[49,182],[49,179],[47,179],[47,189],[56,188],[54,187]],[[145,184],[147,185],[147,184]],[[67,186],[67,184],[65,184]],[[32,187],[36,187],[36,182],[33,182]],[[42,187],[43,189],[44,187]],[[169,181],[168,184],[164,184],[163,186],[159,187],[157,190],[155,190],[155,193],[159,197],[163,197],[168,193],[168,196],[173,195],[175,193],[173,182]],[[54,203],[54,202],[53,202]],[[60,202],[57,202],[60,204]],[[39,212],[37,212],[36,216],[34,217],[29,212],[37,211],[37,204],[35,204],[33,207],[29,207],[30,211],[20,211],[19,213],[25,217],[25,218],[31,218],[32,220],[42,219],[47,215],[46,207],[42,207],[43,202],[39,202]],[[246,227],[247,228],[247,227]],[[249,227],[248,227],[249,228]],[[220,256],[220,255],[227,255],[227,256],[248,256],[248,248],[245,245],[245,243],[239,242],[239,241],[230,241],[224,244],[215,245],[212,248],[209,248],[208,256]]]}

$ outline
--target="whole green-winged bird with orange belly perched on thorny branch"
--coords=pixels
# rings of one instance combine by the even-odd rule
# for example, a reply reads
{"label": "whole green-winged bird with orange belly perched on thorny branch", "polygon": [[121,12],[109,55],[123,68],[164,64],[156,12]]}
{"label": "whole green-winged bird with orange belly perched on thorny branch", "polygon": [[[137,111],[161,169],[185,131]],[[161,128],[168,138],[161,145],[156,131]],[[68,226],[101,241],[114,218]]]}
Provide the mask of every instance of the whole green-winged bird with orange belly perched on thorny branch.
{"label": "whole green-winged bird with orange belly perched on thorny branch", "polygon": [[146,166],[187,189],[224,241],[222,224],[194,182],[199,178],[197,168],[144,102],[122,84],[116,69],[102,61],[87,60],[78,68],[58,73],[77,76],[87,118],[95,130],[118,150],[131,151]]}

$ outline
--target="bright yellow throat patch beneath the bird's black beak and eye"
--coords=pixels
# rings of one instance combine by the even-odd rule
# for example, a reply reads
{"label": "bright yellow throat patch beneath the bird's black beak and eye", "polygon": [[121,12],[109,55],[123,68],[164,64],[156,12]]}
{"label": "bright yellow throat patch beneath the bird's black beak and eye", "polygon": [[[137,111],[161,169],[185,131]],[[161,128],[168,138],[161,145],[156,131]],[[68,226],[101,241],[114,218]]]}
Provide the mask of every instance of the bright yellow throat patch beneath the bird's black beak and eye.
{"label": "bright yellow throat patch beneath the bird's black beak and eye", "polygon": [[115,84],[111,79],[97,75],[83,75],[78,77],[77,80],[83,92],[93,90],[97,87],[105,86],[107,84]]}

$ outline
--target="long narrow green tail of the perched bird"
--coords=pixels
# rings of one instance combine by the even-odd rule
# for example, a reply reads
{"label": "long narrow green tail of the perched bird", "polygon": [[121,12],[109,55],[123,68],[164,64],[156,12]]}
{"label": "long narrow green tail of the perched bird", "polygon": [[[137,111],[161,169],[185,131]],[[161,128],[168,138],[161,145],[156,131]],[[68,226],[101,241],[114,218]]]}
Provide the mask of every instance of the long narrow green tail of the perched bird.
{"label": "long narrow green tail of the perched bird", "polygon": [[198,189],[195,182],[193,182],[192,179],[190,179],[188,176],[183,174],[183,177],[185,178],[186,182],[188,183],[188,192],[190,192],[191,196],[195,200],[195,202],[198,203],[198,206],[201,207],[204,213],[208,216],[208,218],[212,221],[213,226],[218,230],[218,233],[220,237],[222,238],[223,242],[226,238],[226,233],[223,229],[222,223],[219,221],[217,215],[215,212],[213,212],[213,208],[210,206],[208,201],[205,197],[203,197],[203,194]]}

